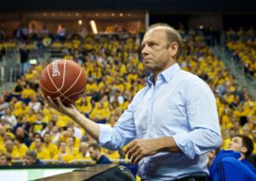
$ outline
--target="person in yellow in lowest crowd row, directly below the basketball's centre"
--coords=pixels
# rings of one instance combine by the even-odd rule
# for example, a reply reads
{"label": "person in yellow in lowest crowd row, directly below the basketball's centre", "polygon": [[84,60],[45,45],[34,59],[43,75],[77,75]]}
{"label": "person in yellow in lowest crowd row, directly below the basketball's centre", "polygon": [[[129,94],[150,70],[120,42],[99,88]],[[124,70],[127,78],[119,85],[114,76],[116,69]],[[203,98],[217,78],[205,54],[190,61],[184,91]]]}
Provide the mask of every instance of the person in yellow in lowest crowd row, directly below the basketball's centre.
{"label": "person in yellow in lowest crowd row, directly below the basketball's centre", "polygon": [[63,163],[69,163],[74,160],[74,156],[67,151],[67,143],[61,141],[59,153],[54,156],[54,160],[58,160]]}

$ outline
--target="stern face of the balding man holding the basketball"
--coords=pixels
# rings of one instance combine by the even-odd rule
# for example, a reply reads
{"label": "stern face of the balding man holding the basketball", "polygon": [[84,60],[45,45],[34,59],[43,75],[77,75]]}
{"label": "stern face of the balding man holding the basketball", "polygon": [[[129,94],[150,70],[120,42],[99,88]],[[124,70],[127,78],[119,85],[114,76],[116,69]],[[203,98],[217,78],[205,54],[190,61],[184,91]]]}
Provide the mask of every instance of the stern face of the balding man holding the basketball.
{"label": "stern face of the balding man holding the basketball", "polygon": [[168,68],[170,50],[166,29],[154,28],[145,33],[142,41],[142,58],[145,67],[153,73]]}

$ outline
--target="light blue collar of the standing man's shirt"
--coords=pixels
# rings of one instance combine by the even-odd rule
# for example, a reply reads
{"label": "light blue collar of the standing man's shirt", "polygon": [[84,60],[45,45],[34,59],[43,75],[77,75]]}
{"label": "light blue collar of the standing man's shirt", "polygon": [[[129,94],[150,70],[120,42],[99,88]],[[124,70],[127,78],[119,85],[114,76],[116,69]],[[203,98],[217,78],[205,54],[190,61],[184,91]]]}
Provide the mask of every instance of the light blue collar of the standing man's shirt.
{"label": "light blue collar of the standing man's shirt", "polygon": [[[174,63],[167,70],[160,72],[157,75],[157,80],[159,80],[159,78],[161,77],[162,79],[164,79],[164,81],[166,83],[168,83],[170,81],[170,79],[180,70],[181,70],[181,68],[180,68],[179,64]],[[147,83],[149,84],[149,86],[151,86],[153,84],[153,74],[151,74],[147,78]]]}

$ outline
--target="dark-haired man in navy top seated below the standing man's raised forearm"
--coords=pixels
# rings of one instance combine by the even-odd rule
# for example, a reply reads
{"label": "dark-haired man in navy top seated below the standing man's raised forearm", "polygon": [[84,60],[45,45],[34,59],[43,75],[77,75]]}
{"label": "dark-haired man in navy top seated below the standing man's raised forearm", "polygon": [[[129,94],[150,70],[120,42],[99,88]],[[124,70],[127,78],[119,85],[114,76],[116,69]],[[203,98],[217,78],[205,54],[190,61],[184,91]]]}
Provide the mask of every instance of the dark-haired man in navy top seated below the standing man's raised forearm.
{"label": "dark-haired man in navy top seated below the standing man's raised forearm", "polygon": [[109,164],[112,163],[106,156],[101,154],[101,147],[97,143],[92,143],[88,146],[88,152],[90,158],[97,164]]}

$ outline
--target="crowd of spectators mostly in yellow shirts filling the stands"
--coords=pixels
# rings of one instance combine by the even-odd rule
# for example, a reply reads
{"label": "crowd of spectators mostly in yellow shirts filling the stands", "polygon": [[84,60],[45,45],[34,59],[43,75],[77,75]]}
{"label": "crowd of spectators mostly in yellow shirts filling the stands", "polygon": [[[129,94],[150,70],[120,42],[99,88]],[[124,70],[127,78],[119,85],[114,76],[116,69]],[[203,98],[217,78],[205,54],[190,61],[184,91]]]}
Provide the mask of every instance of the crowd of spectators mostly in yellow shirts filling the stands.
{"label": "crowd of spectators mostly in yellow shirts filling the stands", "polygon": [[[246,88],[239,87],[222,60],[213,55],[203,33],[194,30],[181,33],[184,53],[179,64],[182,70],[201,77],[214,92],[222,126],[222,148],[227,149],[230,137],[235,134],[251,137],[255,145],[255,99]],[[61,51],[61,58],[73,59],[84,68],[87,90],[75,106],[97,123],[115,126],[132,97],[146,83],[148,72],[141,62],[140,36],[88,34],[81,38],[77,34],[54,41],[45,36],[42,41],[47,48]],[[25,45],[30,51],[41,47],[38,41],[32,43]],[[17,42],[5,44],[10,45],[5,46],[8,48],[16,47]],[[102,152],[109,159],[126,159],[122,149],[100,149],[99,153],[96,141],[81,127],[47,106],[39,89],[39,76],[46,64],[47,61],[24,69],[26,72],[20,74],[13,90],[0,96],[0,152],[7,155],[7,164],[11,164],[9,160],[15,162],[24,158],[28,150],[34,150],[41,161],[98,162],[97,151],[100,157]],[[1,154],[0,159],[2,157]]]}

